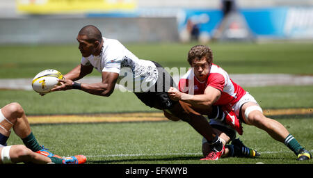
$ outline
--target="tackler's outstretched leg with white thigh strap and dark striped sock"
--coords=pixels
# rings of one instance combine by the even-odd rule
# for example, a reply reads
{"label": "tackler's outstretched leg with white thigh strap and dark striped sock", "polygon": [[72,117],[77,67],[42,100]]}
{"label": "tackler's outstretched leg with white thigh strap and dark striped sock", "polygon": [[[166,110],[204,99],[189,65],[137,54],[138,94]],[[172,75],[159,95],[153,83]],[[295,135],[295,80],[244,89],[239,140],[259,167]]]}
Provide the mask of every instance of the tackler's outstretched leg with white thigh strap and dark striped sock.
{"label": "tackler's outstretched leg with white thigh strap and dark striped sock", "polygon": [[266,131],[273,139],[284,143],[297,156],[298,160],[311,159],[311,154],[305,150],[298,141],[292,136],[287,129],[277,120],[266,118],[262,109],[254,102],[247,102],[241,107],[241,113],[246,124],[254,125],[259,129]]}

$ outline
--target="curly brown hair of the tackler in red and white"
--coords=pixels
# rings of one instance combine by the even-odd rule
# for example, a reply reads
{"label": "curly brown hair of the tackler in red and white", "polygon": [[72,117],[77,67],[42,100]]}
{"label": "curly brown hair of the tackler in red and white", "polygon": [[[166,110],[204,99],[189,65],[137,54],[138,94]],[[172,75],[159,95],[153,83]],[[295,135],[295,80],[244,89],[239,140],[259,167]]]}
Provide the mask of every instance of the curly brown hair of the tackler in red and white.
{"label": "curly brown hair of the tackler in red and white", "polygon": [[212,63],[213,62],[212,50],[209,47],[201,44],[195,45],[188,52],[188,63],[191,65],[193,60],[201,60],[202,57],[205,57],[208,63]]}

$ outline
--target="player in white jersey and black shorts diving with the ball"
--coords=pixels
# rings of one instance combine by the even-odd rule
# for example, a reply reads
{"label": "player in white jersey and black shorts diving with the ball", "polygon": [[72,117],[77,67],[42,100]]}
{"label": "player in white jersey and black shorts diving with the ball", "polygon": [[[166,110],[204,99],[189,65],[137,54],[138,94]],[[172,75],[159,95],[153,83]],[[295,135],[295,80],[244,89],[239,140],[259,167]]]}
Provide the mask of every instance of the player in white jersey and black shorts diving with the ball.
{"label": "player in white jersey and black shorts diving with the ball", "polygon": [[[65,74],[64,79],[60,80],[62,85],[53,88],[52,92],[78,89],[93,95],[109,97],[115,83],[125,85],[144,104],[162,110],[170,120],[180,119],[188,122],[208,140],[211,147],[222,151],[223,143],[212,131],[206,118],[194,113],[188,105],[183,108],[183,102],[175,102],[168,97],[168,89],[175,84],[161,65],[139,59],[118,40],[104,38],[99,29],[93,25],[84,26],[77,35],[77,41],[82,55],[81,63]],[[75,82],[90,74],[93,68],[102,74],[102,82]],[[125,82],[129,80],[134,85],[129,86],[129,82]]]}

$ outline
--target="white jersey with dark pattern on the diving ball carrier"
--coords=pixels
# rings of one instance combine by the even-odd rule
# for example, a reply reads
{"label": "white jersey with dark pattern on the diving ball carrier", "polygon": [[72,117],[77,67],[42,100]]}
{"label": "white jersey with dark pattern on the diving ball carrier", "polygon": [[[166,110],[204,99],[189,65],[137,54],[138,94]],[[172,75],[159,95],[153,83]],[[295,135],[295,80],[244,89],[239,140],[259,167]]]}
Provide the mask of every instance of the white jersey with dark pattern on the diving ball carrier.
{"label": "white jersey with dark pattern on the diving ball carrier", "polygon": [[81,58],[82,65],[93,65],[100,73],[118,73],[118,84],[133,92],[146,91],[157,82],[158,70],[152,61],[139,59],[118,40],[103,40],[100,55]]}

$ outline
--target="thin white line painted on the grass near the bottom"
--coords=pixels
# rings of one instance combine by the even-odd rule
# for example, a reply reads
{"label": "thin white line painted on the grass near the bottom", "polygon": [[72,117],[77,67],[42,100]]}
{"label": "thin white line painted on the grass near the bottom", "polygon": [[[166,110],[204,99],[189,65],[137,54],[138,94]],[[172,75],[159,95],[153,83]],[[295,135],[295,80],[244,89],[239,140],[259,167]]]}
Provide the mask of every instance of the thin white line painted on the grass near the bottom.
{"label": "thin white line painted on the grass near the bottom", "polygon": [[[292,153],[291,151],[279,151],[279,152],[259,152],[259,154],[280,154],[280,153]],[[312,150],[309,150],[309,152],[313,152]],[[102,155],[89,155],[86,157],[104,157],[104,158],[109,158],[109,157],[129,157],[129,156],[177,156],[177,155],[182,155],[182,156],[202,156],[201,152],[198,153],[156,153],[156,154],[102,154]]]}

